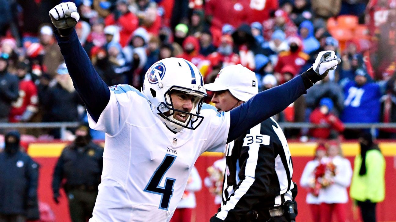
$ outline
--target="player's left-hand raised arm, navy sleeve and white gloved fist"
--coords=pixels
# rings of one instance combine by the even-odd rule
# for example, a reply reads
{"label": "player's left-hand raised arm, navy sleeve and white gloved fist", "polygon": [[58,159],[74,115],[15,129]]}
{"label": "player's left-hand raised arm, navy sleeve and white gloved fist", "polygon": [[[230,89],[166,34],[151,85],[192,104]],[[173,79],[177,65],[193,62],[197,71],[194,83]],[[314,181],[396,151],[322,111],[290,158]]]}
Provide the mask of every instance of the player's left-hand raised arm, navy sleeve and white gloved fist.
{"label": "player's left-hand raised arm, navy sleeve and white gloved fist", "polygon": [[99,77],[80,41],[74,26],[79,15],[72,2],[61,3],[49,11],[51,21],[57,28],[55,38],[61,48],[67,70],[74,88],[84,101],[89,115],[97,122],[110,100],[110,90]]}

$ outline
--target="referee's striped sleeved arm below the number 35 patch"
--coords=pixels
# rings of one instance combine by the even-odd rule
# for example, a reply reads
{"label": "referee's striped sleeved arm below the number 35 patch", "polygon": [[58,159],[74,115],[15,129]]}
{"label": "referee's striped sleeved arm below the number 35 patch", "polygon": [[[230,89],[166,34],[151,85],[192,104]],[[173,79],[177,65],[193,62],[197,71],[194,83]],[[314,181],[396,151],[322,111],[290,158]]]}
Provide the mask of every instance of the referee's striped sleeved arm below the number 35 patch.
{"label": "referee's striped sleeved arm below the number 35 patch", "polygon": [[227,199],[219,212],[210,219],[210,222],[240,221],[255,204],[267,198],[270,175],[275,167],[274,149],[273,147],[268,149],[267,146],[254,145],[254,143],[248,149],[249,156],[246,159],[240,158],[243,164],[239,173],[240,181],[234,194]]}

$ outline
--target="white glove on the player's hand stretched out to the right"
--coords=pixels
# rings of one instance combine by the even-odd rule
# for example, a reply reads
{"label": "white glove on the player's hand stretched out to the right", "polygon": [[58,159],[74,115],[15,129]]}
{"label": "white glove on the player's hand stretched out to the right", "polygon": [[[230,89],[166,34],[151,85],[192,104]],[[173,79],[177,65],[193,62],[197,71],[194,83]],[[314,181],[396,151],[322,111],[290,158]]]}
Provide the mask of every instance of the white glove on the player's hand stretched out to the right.
{"label": "white glove on the player's hand stretched out to the right", "polygon": [[329,70],[335,70],[340,62],[341,59],[337,58],[334,51],[322,51],[316,57],[315,63],[312,64],[312,69],[324,78]]}

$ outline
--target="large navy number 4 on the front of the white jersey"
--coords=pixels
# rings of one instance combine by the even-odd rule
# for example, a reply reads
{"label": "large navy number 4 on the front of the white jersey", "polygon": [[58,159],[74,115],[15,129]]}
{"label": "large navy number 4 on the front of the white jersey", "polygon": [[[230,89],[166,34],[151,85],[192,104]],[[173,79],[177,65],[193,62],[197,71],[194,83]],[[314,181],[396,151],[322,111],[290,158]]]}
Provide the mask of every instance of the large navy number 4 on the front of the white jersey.
{"label": "large navy number 4 on the front of the white jersey", "polygon": [[175,184],[176,179],[166,177],[163,187],[160,186],[160,182],[166,171],[168,171],[169,167],[175,162],[175,159],[176,156],[166,154],[164,160],[162,160],[162,163],[151,176],[150,181],[148,181],[146,188],[143,190],[145,192],[161,195],[159,209],[168,210],[169,208],[169,202],[173,194],[173,184]]}

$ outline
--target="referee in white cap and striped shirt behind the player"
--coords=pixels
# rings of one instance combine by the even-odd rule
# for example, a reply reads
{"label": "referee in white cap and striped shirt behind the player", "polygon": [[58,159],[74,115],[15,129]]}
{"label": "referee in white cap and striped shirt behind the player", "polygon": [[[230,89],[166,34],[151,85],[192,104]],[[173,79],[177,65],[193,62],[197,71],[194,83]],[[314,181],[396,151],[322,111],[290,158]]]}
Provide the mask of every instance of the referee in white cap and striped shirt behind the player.
{"label": "referee in white cap and striped shirt behind the player", "polygon": [[[242,65],[223,68],[205,88],[214,91],[211,102],[218,111],[229,111],[258,93],[255,73]],[[272,117],[228,143],[225,154],[223,201],[211,222],[295,221],[297,187],[291,181],[289,146]]]}

